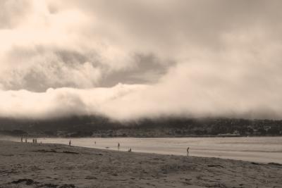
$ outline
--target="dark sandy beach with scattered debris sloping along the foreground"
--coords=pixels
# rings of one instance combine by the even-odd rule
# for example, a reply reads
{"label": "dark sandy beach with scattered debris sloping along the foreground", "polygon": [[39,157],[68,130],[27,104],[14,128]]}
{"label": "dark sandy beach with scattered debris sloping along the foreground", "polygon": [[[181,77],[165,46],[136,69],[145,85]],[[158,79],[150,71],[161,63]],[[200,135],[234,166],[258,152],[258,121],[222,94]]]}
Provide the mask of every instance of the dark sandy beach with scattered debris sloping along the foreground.
{"label": "dark sandy beach with scattered debris sloping along the foreground", "polygon": [[282,187],[282,166],[0,141],[0,187]]}

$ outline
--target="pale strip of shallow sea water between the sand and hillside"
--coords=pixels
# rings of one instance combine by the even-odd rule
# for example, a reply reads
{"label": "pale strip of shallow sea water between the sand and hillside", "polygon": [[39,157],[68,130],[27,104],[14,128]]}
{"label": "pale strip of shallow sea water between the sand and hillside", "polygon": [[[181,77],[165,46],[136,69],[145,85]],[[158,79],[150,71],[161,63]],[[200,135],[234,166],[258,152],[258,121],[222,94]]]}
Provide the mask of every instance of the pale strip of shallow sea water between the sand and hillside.
{"label": "pale strip of shallow sea water between the sand and hillside", "polygon": [[[38,142],[49,144],[68,144],[95,149],[128,151],[132,148],[138,153],[158,153],[186,156],[190,147],[190,156],[228,158],[256,163],[282,163],[282,137],[174,137],[174,138],[38,138]],[[11,141],[20,141],[11,137]],[[95,144],[96,143],[96,144]],[[121,146],[118,148],[118,143]]]}

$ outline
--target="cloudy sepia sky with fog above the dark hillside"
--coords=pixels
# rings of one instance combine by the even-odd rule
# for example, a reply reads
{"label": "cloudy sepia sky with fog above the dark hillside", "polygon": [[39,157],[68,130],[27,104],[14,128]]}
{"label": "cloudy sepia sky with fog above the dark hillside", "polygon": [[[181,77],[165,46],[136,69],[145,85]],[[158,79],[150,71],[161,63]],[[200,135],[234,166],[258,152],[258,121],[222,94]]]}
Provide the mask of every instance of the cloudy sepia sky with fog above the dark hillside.
{"label": "cloudy sepia sky with fog above the dark hillside", "polygon": [[0,116],[282,119],[281,8],[1,0]]}

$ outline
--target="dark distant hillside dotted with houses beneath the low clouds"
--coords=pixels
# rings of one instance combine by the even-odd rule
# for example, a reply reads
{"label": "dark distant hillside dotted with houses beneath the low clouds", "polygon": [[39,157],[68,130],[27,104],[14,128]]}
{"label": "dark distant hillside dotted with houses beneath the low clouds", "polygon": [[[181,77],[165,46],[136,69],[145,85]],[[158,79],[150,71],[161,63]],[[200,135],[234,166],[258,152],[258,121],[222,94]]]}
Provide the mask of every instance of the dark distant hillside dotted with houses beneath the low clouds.
{"label": "dark distant hillside dotted with houses beneath the low clouds", "polygon": [[282,120],[157,118],[120,123],[102,116],[52,120],[0,118],[0,134],[52,137],[282,136]]}

